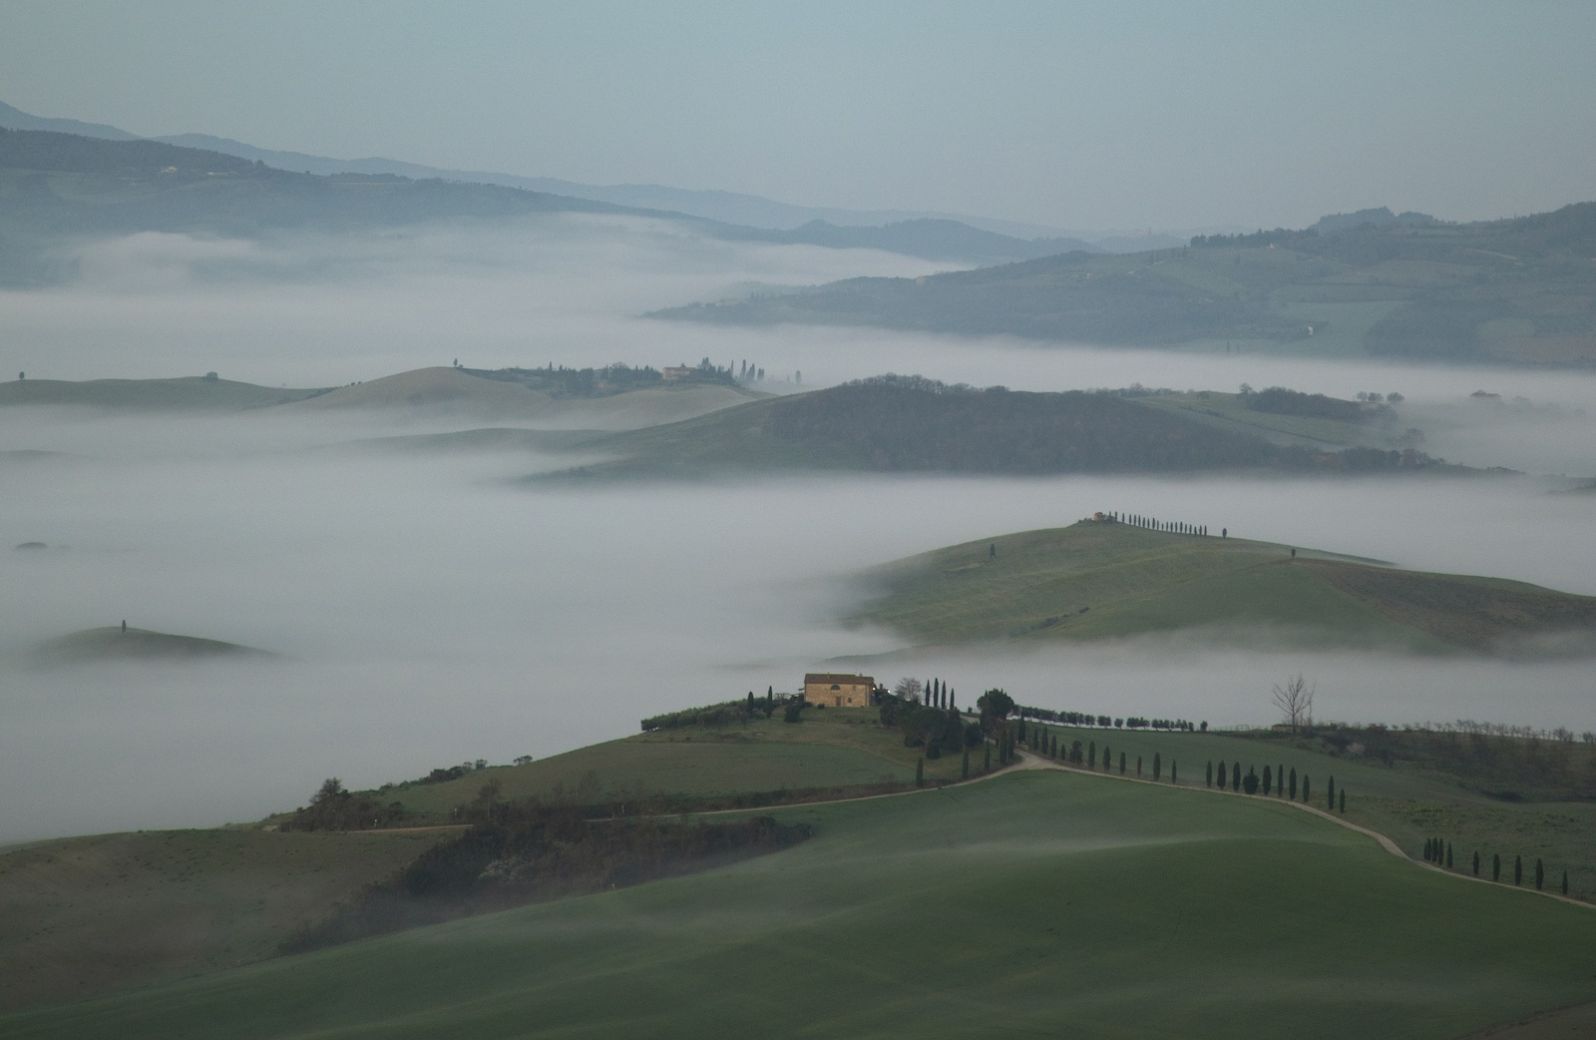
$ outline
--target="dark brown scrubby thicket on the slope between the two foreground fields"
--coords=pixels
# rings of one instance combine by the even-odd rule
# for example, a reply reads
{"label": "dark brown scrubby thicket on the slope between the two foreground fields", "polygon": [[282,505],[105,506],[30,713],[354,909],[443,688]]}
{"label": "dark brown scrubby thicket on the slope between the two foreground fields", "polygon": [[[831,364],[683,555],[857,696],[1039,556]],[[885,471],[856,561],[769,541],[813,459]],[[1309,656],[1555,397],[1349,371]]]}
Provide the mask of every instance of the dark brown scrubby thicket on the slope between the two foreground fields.
{"label": "dark brown scrubby thicket on the slope between the two foreground fields", "polygon": [[327,920],[294,935],[284,952],[709,869],[787,849],[809,834],[808,825],[771,817],[591,820],[573,806],[496,802],[490,818],[369,885]]}

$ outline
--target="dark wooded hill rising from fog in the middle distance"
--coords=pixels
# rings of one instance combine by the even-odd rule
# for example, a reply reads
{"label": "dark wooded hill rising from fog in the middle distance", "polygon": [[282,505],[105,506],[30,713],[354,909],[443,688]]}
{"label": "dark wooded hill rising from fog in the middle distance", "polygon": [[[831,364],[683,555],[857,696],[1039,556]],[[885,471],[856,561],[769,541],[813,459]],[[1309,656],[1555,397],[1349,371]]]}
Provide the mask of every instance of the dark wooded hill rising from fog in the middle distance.
{"label": "dark wooded hill rising from fog in the middle distance", "polygon": [[1456,469],[1412,451],[1275,443],[1140,394],[982,391],[916,376],[757,400],[586,447],[619,458],[567,477]]}

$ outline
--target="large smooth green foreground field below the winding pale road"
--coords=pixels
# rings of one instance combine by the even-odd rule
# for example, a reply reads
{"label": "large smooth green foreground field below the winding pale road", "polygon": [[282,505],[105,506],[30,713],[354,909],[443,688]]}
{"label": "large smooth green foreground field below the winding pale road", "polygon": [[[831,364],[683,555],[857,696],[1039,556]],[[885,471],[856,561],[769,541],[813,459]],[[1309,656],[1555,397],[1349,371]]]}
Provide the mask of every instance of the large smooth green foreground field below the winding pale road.
{"label": "large smooth green foreground field below the winding pale road", "polygon": [[1596,914],[1258,799],[1018,774],[782,815],[817,837],[0,1032],[1420,1038],[1596,992]]}

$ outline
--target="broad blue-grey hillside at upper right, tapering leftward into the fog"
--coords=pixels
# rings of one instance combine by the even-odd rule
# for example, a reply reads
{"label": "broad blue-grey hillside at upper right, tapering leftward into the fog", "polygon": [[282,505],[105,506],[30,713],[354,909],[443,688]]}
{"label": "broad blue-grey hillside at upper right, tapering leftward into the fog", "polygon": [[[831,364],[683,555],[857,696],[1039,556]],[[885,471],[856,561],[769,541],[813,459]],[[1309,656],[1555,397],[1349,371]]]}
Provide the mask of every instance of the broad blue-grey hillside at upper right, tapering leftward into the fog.
{"label": "broad blue-grey hillside at upper right, tapering leftward into the fog", "polygon": [[857,278],[656,317],[1325,357],[1596,364],[1596,203],[1478,223],[1393,217],[1321,225],[916,279]]}

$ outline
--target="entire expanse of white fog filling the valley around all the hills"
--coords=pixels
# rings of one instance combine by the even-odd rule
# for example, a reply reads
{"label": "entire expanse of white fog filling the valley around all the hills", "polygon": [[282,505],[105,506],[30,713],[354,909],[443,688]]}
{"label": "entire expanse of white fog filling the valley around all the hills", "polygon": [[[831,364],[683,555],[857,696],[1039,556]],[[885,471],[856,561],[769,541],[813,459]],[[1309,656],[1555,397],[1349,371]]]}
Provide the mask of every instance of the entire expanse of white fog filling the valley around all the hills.
{"label": "entire expanse of white fog filling the valley around all the hills", "polygon": [[[426,408],[161,415],[0,410],[0,842],[209,825],[434,766],[538,758],[643,715],[900,651],[838,619],[871,565],[1071,523],[1178,515],[1232,534],[1596,595],[1596,375],[728,329],[643,317],[750,286],[919,276],[921,260],[749,246],[619,219],[257,242],[91,242],[78,281],[0,293],[5,357],[30,380],[219,372],[342,386],[404,370],[747,360],[790,392],[883,372],[1012,389],[1398,391],[1425,450],[1521,475],[788,477],[541,485],[573,458],[370,439],[506,426]],[[801,386],[793,373],[801,372]],[[10,373],[8,373],[10,375]],[[1476,391],[1495,397],[1473,397]],[[530,423],[527,423],[530,426]],[[559,426],[581,426],[578,408]],[[19,552],[11,546],[43,542]],[[38,640],[115,625],[276,659],[38,670]],[[1596,729],[1588,660],[1396,659],[1200,638],[907,652],[844,667],[938,675],[974,700],[1274,721],[1317,683],[1323,718],[1473,718]],[[962,700],[961,700],[962,702]]]}

